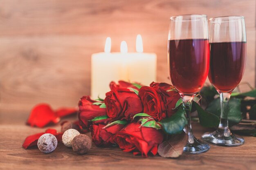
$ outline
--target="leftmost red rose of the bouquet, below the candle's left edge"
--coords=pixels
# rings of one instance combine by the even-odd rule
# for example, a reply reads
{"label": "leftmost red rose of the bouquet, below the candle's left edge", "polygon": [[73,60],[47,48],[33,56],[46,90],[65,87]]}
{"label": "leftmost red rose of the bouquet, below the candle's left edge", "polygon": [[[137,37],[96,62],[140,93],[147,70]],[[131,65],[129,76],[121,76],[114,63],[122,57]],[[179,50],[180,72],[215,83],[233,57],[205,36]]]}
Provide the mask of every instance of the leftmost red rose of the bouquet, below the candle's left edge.
{"label": "leftmost red rose of the bouquet, below the candle's left edge", "polygon": [[92,119],[99,116],[107,116],[106,108],[100,108],[98,105],[94,105],[94,102],[99,102],[92,100],[90,96],[83,96],[79,101],[79,124],[83,128],[88,128],[90,124],[107,124],[110,119],[99,119],[97,121],[91,122]]}

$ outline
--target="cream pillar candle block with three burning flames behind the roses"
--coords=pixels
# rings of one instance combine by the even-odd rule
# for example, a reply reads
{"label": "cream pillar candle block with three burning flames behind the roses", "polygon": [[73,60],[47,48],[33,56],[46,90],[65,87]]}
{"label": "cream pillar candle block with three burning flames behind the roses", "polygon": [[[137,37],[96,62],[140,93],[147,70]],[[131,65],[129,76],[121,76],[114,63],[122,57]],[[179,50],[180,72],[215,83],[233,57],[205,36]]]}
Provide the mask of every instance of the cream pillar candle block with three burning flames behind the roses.
{"label": "cream pillar candle block with three burning flames behind the roses", "polygon": [[[139,38],[138,38],[139,37]],[[128,53],[126,42],[121,42],[121,53],[110,53],[111,40],[107,38],[105,52],[92,54],[91,97],[105,98],[111,81],[139,82],[146,86],[156,81],[157,56],[143,53],[142,39],[137,37],[137,53]]]}

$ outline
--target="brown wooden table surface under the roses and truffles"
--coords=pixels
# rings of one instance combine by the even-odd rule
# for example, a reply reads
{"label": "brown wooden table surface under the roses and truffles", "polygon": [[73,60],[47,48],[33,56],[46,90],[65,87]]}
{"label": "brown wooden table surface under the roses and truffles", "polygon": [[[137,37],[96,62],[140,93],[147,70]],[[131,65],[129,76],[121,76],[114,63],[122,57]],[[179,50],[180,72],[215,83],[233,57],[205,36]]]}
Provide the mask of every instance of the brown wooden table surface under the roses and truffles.
{"label": "brown wooden table surface under the roses and truffles", "polygon": [[[238,147],[212,146],[200,155],[182,155],[177,159],[160,156],[143,158],[119,148],[98,148],[92,145],[87,155],[77,155],[59,143],[50,154],[37,147],[23,149],[28,135],[45,130],[25,125],[28,113],[0,110],[0,170],[256,170],[256,137],[244,136]],[[76,117],[65,119],[75,120]],[[63,120],[63,119],[62,119]],[[211,129],[193,123],[196,137]],[[60,130],[59,124],[49,126]]]}

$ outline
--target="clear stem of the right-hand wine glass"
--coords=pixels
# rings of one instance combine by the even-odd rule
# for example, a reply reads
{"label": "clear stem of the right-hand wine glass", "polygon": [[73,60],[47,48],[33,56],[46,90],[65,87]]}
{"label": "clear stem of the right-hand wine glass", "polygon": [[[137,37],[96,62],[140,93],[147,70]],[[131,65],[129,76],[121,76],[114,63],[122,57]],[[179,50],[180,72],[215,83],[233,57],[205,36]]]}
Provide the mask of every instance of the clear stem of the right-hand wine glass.
{"label": "clear stem of the right-hand wine glass", "polygon": [[224,134],[225,137],[230,136],[228,110],[229,110],[230,93],[220,93],[220,124],[218,130]]}

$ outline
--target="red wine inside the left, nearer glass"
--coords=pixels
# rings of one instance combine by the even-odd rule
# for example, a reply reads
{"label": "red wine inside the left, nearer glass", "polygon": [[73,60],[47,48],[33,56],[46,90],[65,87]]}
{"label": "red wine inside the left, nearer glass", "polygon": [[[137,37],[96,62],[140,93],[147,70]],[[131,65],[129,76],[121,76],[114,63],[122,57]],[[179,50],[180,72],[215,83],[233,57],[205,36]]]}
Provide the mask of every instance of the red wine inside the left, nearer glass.
{"label": "red wine inside the left, nearer glass", "polygon": [[184,94],[200,91],[209,70],[209,40],[169,40],[168,57],[173,86]]}

